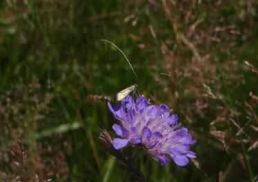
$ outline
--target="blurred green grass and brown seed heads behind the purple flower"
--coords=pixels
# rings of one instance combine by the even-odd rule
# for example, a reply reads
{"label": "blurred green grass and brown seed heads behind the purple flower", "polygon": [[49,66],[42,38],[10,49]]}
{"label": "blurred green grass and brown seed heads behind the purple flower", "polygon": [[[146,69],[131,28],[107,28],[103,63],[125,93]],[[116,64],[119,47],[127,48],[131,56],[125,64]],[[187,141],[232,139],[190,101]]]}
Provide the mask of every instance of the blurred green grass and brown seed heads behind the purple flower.
{"label": "blurred green grass and brown seed heads behind the purple flower", "polygon": [[[104,128],[116,136],[107,105],[84,97],[138,83],[137,92],[173,108],[197,140],[198,158],[184,168],[129,148],[146,181],[257,181],[257,7],[0,1],[1,180],[135,180],[98,141]],[[101,39],[125,52],[138,81]]]}

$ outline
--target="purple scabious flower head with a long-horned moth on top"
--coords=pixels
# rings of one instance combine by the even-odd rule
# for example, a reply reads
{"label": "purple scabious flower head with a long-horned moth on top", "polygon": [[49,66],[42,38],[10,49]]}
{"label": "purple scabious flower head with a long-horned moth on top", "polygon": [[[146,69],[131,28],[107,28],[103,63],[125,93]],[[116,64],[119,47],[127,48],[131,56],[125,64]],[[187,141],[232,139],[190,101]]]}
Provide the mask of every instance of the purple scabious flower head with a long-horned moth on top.
{"label": "purple scabious flower head with a long-horned moth on top", "polygon": [[119,150],[129,143],[142,145],[161,165],[167,165],[169,156],[177,165],[187,165],[188,158],[196,158],[189,146],[196,141],[178,124],[177,115],[171,115],[167,105],[151,105],[149,101],[143,95],[134,101],[129,95],[115,106],[108,103],[120,121],[112,127],[120,136],[113,139],[113,147]]}

